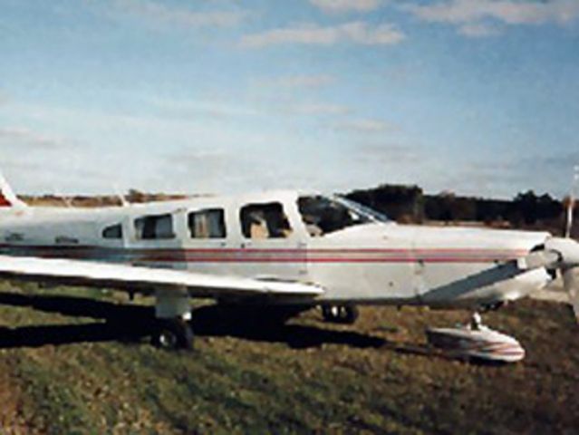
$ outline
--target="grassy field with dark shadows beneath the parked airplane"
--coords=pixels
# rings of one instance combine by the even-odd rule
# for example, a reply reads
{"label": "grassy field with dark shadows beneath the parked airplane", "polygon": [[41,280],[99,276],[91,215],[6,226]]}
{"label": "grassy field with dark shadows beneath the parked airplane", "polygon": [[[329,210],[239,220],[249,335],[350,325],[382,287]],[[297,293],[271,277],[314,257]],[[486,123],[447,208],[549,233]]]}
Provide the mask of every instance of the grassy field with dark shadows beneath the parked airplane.
{"label": "grassy field with dark shadows beneath the parked airplane", "polygon": [[487,314],[525,362],[429,353],[423,330],[464,312],[315,311],[264,328],[200,306],[193,353],[149,345],[150,301],[0,283],[0,433],[576,433],[579,328],[569,307]]}

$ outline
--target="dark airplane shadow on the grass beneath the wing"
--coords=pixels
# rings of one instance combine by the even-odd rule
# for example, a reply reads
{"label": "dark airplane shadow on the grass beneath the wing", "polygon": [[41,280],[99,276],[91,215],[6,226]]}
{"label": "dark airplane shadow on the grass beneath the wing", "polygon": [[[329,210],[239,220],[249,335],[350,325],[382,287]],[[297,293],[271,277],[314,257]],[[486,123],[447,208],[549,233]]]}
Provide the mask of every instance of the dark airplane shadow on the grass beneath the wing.
{"label": "dark airplane shadow on the grass beneath the wing", "polygon": [[[18,295],[0,293],[0,304],[25,306],[45,313],[96,319],[82,324],[52,324],[0,327],[0,348],[39,347],[46,344],[134,342],[152,333],[154,310],[150,306],[114,304],[82,297],[62,295]],[[208,305],[193,311],[193,330],[200,336],[232,336],[252,341],[287,343],[294,348],[344,344],[357,348],[378,348],[387,342],[380,337],[285,324],[287,315],[264,308]],[[293,310],[296,314],[299,310]],[[284,314],[287,314],[285,312]],[[276,318],[277,322],[273,319]]]}

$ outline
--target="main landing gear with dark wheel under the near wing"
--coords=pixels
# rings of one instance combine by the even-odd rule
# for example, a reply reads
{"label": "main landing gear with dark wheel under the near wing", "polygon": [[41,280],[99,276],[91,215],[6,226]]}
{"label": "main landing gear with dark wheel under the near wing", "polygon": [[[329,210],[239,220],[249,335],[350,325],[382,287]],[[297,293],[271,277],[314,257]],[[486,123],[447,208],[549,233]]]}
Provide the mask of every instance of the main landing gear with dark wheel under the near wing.
{"label": "main landing gear with dark wheel under the near wing", "polygon": [[187,293],[157,292],[151,343],[165,350],[193,349],[191,306]]}

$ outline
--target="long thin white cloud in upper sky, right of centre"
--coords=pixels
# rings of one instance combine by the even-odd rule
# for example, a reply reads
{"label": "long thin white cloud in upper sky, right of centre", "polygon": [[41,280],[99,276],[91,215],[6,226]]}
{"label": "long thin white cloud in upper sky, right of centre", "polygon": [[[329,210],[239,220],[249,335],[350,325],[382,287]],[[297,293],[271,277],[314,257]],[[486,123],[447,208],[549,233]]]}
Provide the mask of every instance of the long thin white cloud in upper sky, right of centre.
{"label": "long thin white cloud in upper sky, right of centre", "polygon": [[328,27],[317,24],[301,24],[294,27],[273,29],[261,34],[247,34],[242,38],[241,46],[262,48],[283,43],[393,45],[402,42],[405,37],[405,34],[393,24],[380,24],[372,27],[367,23],[354,21]]}

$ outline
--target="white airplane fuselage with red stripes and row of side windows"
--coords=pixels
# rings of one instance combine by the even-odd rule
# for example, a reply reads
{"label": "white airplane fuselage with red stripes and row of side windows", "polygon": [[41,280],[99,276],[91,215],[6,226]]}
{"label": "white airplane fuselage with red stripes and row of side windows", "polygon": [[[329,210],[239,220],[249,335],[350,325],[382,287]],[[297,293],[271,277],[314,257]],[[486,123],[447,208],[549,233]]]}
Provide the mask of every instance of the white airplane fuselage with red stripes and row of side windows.
{"label": "white airplane fuselage with red stripes and row of side windows", "polygon": [[[0,247],[8,255],[314,283],[325,290],[319,303],[476,306],[515,300],[550,280],[544,268],[498,282],[485,275],[544,244],[547,233],[364,221],[316,234],[298,198],[275,192],[5,211]],[[255,217],[279,210],[287,219],[283,236],[264,237]]]}

